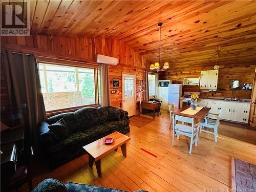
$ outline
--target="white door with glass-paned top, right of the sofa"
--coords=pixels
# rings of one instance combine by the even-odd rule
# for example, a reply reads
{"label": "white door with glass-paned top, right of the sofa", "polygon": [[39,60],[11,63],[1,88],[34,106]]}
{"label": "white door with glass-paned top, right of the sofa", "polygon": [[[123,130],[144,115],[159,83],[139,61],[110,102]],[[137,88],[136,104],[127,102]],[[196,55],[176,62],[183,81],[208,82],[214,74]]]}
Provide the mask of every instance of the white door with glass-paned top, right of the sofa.
{"label": "white door with glass-paned top, right of the sofa", "polygon": [[135,75],[123,74],[123,110],[128,112],[128,116],[135,115]]}

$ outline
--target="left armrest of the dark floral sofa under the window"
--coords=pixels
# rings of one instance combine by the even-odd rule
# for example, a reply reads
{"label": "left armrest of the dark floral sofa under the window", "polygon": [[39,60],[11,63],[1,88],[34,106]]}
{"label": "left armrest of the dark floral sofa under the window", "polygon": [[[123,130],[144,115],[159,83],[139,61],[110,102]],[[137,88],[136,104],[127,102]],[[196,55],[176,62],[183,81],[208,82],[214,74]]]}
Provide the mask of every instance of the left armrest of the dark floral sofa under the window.
{"label": "left armrest of the dark floral sofa under the window", "polygon": [[49,148],[58,142],[58,136],[51,132],[48,126],[46,121],[38,124],[39,139],[43,148]]}

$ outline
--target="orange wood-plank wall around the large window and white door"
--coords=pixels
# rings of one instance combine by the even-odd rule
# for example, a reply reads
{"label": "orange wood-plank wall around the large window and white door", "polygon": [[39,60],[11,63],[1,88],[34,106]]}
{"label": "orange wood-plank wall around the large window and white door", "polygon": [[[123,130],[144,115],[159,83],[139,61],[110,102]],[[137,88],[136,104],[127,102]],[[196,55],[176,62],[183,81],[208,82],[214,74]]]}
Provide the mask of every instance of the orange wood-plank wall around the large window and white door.
{"label": "orange wood-plank wall around the large window and white door", "polygon": [[[143,73],[147,65],[147,61],[143,56],[127,46],[125,42],[115,39],[56,37],[47,35],[1,36],[1,48],[34,53],[40,56],[88,62],[94,62],[96,54],[117,57],[119,61],[118,65],[109,68],[110,89],[116,91],[115,94],[111,94],[111,105],[117,108],[121,107],[122,101],[122,73],[136,74],[137,84],[143,80]],[[1,68],[1,83],[4,85],[5,76],[2,75],[2,72],[3,70]],[[119,79],[119,89],[113,89],[113,78]],[[4,89],[4,87],[1,84],[1,89]],[[136,114],[139,112],[139,91],[140,88],[136,86]],[[4,105],[7,105],[8,95],[5,92],[5,90],[4,92],[2,90],[4,97],[1,95],[1,105],[3,102],[5,103]]]}

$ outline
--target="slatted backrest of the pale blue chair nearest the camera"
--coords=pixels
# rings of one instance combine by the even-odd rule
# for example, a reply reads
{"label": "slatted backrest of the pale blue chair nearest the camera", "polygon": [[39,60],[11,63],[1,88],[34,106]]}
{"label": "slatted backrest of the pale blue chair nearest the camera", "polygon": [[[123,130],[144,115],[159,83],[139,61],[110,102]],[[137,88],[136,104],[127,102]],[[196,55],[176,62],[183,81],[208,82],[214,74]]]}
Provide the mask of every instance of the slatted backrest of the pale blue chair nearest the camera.
{"label": "slatted backrest of the pale blue chair nearest the camera", "polygon": [[[173,121],[173,127],[175,130],[181,130],[190,133],[194,132],[194,118],[173,114]],[[178,121],[182,122],[182,124],[178,123]]]}

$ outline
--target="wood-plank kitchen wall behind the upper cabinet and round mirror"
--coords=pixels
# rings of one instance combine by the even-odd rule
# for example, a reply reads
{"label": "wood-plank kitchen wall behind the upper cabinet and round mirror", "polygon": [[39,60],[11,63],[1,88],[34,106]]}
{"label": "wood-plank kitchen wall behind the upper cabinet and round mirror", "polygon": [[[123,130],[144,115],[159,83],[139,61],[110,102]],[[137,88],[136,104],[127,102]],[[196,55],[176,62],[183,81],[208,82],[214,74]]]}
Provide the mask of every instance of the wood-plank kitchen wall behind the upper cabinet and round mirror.
{"label": "wood-plank kitchen wall behind the upper cabinet and round mirror", "polygon": [[[241,87],[243,83],[253,83],[255,63],[244,63],[244,64],[231,64],[221,65],[219,64],[219,77],[218,77],[218,90],[214,93],[214,97],[238,97],[244,99],[251,98],[251,91],[237,90],[232,91],[229,89],[229,81],[238,79],[241,81]],[[159,80],[173,80],[173,83],[183,83],[184,77],[196,78],[200,77],[201,71],[214,70],[212,65],[205,66],[191,66],[191,67],[175,67],[170,66],[170,69],[166,72],[159,73]],[[184,91],[200,92],[199,86],[183,86]],[[212,98],[211,93],[200,92],[202,98]]]}

